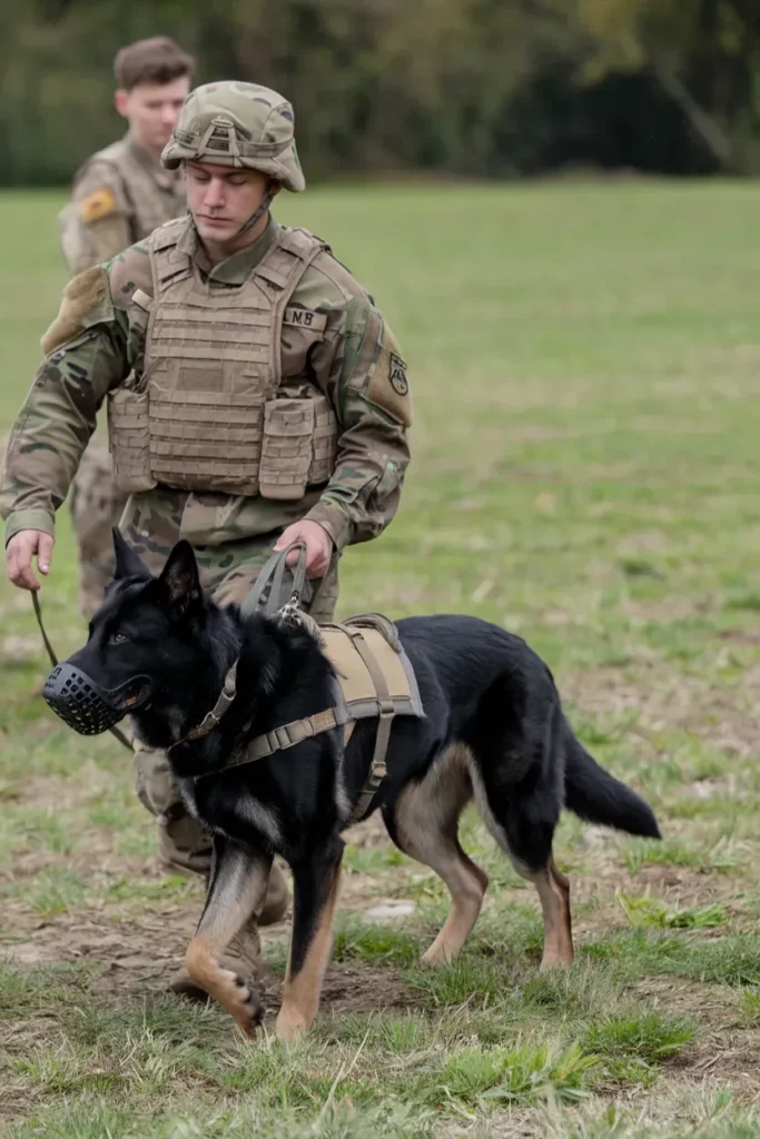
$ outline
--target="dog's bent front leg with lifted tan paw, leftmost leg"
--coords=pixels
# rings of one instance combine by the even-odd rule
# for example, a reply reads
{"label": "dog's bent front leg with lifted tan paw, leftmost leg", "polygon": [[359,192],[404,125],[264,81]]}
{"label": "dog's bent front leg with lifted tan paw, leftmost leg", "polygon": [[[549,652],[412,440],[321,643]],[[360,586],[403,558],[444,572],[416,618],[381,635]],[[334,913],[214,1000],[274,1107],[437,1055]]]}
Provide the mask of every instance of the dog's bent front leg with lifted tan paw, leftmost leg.
{"label": "dog's bent front leg with lifted tan paw, leftmost leg", "polygon": [[271,862],[270,854],[243,849],[214,836],[206,904],[185,954],[187,970],[195,983],[227,1009],[246,1036],[253,1035],[261,1019],[261,997],[251,978],[223,968],[219,954],[251,915],[261,909]]}

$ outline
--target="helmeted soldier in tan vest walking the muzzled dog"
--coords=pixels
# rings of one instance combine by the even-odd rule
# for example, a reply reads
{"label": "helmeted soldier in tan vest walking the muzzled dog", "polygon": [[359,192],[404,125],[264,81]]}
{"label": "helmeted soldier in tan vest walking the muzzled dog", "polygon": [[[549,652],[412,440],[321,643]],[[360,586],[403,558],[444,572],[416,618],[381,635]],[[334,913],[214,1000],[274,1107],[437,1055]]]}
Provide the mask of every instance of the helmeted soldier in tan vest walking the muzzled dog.
{"label": "helmeted soldier in tan vest walking the muzzled dog", "polygon": [[[49,572],[55,511],[105,399],[130,495],[121,528],[153,568],[186,538],[205,585],[239,603],[272,547],[301,540],[308,575],[321,577],[307,606],[329,620],[341,551],[379,534],[399,505],[406,364],[329,247],[271,218],[280,189],[304,189],[289,103],[253,83],[201,87],[162,161],[183,170],[189,215],[75,277],[42,338],[6,456],[9,577],[39,589],[33,556]],[[205,871],[209,837],[163,754],[138,749],[137,784],[164,858]],[[277,875],[265,909],[281,913]],[[226,957],[260,972],[255,915]],[[180,973],[174,988],[191,993],[188,982]]]}

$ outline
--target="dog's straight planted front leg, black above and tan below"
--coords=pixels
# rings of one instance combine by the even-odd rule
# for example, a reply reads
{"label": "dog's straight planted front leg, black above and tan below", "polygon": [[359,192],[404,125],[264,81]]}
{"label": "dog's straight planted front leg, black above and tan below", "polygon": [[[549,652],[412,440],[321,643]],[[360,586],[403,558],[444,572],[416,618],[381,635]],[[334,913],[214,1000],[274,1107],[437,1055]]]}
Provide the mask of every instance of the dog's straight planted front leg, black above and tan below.
{"label": "dog's straight planted front leg, black above and tan below", "polygon": [[333,919],[345,843],[335,837],[293,870],[293,931],[276,1031],[296,1040],[311,1027],[333,948]]}

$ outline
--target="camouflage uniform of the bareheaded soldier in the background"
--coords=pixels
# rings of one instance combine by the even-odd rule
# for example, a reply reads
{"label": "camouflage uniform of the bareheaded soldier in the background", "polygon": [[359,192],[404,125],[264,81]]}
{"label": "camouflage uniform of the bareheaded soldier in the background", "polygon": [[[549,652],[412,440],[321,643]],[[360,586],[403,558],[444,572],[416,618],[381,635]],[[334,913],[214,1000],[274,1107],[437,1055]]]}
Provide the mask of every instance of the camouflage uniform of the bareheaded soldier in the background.
{"label": "camouflage uniform of the bareheaded soldier in the background", "polygon": [[[185,213],[185,181],[138,146],[130,133],[98,150],[76,172],[58,215],[71,273],[114,257],[157,226]],[[91,616],[114,570],[111,527],[126,497],[115,486],[108,449],[93,440],[72,483],[70,508],[80,562],[80,607]]]}

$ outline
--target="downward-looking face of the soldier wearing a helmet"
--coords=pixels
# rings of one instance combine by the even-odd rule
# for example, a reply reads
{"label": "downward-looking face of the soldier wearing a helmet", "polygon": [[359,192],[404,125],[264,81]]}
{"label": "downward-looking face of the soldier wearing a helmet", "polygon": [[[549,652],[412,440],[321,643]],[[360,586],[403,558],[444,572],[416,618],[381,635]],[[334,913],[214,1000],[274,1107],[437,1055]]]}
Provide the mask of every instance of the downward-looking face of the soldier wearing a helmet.
{"label": "downward-looking face of the soldier wearing a helmet", "polygon": [[185,183],[198,233],[219,245],[238,238],[240,227],[261,205],[269,179],[258,170],[186,162]]}

